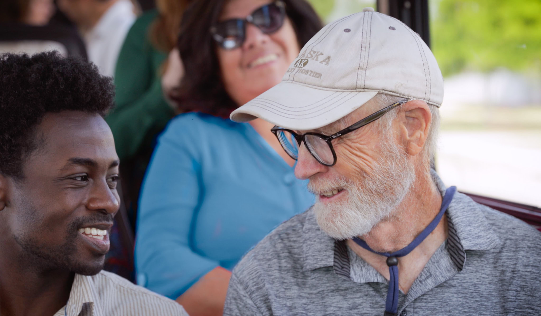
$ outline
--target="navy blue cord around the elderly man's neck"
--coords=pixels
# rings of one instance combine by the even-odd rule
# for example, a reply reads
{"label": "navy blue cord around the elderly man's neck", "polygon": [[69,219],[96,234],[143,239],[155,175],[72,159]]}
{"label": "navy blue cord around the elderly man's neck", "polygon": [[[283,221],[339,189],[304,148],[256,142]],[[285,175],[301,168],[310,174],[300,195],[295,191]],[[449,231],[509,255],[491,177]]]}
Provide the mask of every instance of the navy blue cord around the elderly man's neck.
{"label": "navy blue cord around the elderly man's neck", "polygon": [[389,288],[387,290],[387,300],[385,301],[384,316],[395,316],[398,313],[398,257],[405,256],[410,253],[413,249],[415,249],[415,247],[419,246],[423,240],[425,240],[426,236],[430,235],[430,233],[436,229],[436,226],[438,226],[438,223],[445,213],[445,210],[447,210],[451,204],[451,200],[453,200],[454,193],[456,192],[457,187],[449,187],[445,191],[445,196],[443,197],[443,201],[441,201],[440,212],[436,218],[434,218],[430,224],[428,224],[428,226],[426,226],[426,228],[423,229],[423,231],[417,237],[415,237],[412,242],[410,242],[410,245],[407,245],[399,251],[393,253],[373,251],[364,240],[357,237],[353,238],[353,241],[355,241],[362,248],[387,257],[387,266],[389,267],[390,277]]}

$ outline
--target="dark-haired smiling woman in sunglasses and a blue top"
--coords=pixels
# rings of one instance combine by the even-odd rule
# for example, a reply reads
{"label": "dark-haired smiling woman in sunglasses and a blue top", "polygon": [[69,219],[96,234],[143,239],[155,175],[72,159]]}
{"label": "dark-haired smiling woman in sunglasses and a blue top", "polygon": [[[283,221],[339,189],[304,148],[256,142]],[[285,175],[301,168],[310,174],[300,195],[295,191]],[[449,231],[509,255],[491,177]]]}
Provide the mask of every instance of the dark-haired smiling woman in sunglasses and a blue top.
{"label": "dark-haired smiling woman in sunglasses and a blue top", "polygon": [[202,0],[182,18],[181,114],[157,144],[142,187],[138,284],[194,315],[221,315],[230,270],[314,202],[265,121],[235,108],[281,81],[321,28],[305,0]]}

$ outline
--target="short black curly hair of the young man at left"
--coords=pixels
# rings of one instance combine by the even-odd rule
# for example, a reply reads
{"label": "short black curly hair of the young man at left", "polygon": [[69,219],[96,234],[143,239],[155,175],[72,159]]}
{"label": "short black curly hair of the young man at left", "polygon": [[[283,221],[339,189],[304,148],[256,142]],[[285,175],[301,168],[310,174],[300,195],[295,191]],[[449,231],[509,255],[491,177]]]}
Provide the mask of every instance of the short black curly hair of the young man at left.
{"label": "short black curly hair of the young man at left", "polygon": [[105,116],[114,86],[94,64],[56,51],[0,55],[0,173],[22,179],[24,159],[37,148],[35,130],[46,113],[84,111]]}

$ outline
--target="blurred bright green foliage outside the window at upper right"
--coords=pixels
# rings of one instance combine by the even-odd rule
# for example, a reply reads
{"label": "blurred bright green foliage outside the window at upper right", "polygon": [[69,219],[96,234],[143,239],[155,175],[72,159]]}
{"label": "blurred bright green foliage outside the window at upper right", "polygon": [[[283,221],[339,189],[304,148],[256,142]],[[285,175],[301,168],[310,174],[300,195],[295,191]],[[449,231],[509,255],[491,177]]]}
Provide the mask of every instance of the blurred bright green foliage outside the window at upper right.
{"label": "blurred bright green foliage outside the window at upper right", "polygon": [[540,0],[430,0],[432,51],[444,76],[505,67],[541,75]]}

